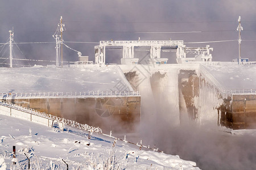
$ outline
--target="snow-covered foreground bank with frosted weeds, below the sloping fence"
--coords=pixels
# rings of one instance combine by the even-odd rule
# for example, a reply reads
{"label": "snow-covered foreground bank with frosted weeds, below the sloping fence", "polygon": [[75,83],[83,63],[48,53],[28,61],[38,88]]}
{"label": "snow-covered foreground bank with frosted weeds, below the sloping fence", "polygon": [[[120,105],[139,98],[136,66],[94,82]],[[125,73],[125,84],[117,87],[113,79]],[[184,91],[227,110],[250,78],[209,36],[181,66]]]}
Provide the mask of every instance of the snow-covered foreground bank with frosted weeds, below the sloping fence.
{"label": "snow-covered foreground bank with frosted weeds, below the sloping fence", "polygon": [[[199,169],[179,156],[142,151],[129,143],[66,127],[48,128],[0,115],[0,169]],[[16,146],[16,159],[13,159]],[[25,155],[26,154],[26,155]],[[63,160],[62,160],[63,159]],[[13,165],[16,161],[16,165]]]}

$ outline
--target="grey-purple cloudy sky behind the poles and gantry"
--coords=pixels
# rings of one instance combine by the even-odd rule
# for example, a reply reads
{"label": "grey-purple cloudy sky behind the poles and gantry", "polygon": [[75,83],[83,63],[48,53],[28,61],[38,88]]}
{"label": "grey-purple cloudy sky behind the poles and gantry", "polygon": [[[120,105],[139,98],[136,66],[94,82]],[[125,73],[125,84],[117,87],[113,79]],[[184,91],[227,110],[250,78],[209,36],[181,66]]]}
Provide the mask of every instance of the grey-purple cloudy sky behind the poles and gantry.
{"label": "grey-purple cloudy sky behind the poles and gantry", "polygon": [[[52,35],[63,16],[64,41],[99,42],[100,40],[184,40],[184,42],[236,40],[238,16],[243,26],[242,40],[256,40],[256,1],[245,0],[0,0],[0,42],[7,42],[14,27],[15,42],[55,42]],[[136,33],[202,31],[201,33]],[[94,59],[94,45],[67,43]],[[210,45],[213,61],[231,61],[238,57],[238,42],[187,44]],[[55,44],[18,44],[16,58],[55,60]],[[256,41],[242,41],[241,56],[256,61]],[[1,50],[2,48],[0,48]],[[3,53],[5,50],[7,51]],[[110,51],[110,52],[109,52]],[[113,50],[107,51],[108,56]],[[119,53],[119,52],[118,52]],[[120,53],[121,54],[121,53]],[[165,55],[169,55],[167,53]],[[7,46],[0,53],[8,57]],[[175,58],[175,53],[171,54]],[[119,62],[118,57],[109,59]],[[77,54],[64,48],[64,60],[76,61]],[[2,61],[0,61],[2,62]]]}

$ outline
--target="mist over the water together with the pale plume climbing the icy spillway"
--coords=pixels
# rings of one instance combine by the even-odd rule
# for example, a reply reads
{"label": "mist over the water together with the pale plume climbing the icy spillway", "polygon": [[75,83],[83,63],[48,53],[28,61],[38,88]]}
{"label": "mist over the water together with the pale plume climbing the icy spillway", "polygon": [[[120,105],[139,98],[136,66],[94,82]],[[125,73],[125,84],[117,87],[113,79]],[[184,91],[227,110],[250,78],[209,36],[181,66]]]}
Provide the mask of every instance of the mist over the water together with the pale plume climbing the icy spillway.
{"label": "mist over the water together with the pale plume climbing the icy spillway", "polygon": [[[171,115],[175,114],[175,107],[179,106],[172,105],[170,108],[170,103],[166,101],[177,100],[172,95],[175,92],[167,94],[163,84],[152,86],[152,82],[164,82],[171,75],[169,73],[162,77],[153,74],[150,77],[151,84],[146,80],[140,84],[142,125],[139,130],[142,143],[151,147],[155,145],[167,154],[179,155],[181,159],[192,160],[201,169],[256,169],[255,135],[232,135],[220,131],[217,120],[204,121],[204,125],[198,125],[183,119],[181,125],[175,124]],[[172,78],[169,83],[174,81],[175,78]],[[167,85],[170,88],[170,84]],[[151,86],[152,91],[148,86]]]}

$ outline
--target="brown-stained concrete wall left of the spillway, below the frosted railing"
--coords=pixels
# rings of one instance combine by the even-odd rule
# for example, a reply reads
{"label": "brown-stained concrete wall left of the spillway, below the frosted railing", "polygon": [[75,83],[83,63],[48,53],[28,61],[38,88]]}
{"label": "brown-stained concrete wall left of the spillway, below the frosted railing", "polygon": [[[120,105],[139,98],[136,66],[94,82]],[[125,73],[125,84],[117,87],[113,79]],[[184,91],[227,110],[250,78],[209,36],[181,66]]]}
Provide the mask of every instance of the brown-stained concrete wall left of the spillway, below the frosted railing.
{"label": "brown-stained concrete wall left of the spillway, below the frosted railing", "polygon": [[98,126],[105,133],[134,133],[141,122],[141,97],[12,99],[14,104],[81,124]]}

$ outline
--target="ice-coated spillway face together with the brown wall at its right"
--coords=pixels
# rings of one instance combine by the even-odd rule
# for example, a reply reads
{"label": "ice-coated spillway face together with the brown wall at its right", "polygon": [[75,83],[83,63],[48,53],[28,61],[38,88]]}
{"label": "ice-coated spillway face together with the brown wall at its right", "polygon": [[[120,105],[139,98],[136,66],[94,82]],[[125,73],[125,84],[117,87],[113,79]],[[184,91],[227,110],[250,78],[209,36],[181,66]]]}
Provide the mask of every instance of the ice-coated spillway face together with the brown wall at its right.
{"label": "ice-coated spillway face together with the brown wall at its right", "polygon": [[200,65],[120,67],[134,90],[141,92],[145,124],[168,126],[196,121],[232,129],[255,129],[256,95],[229,93]]}

